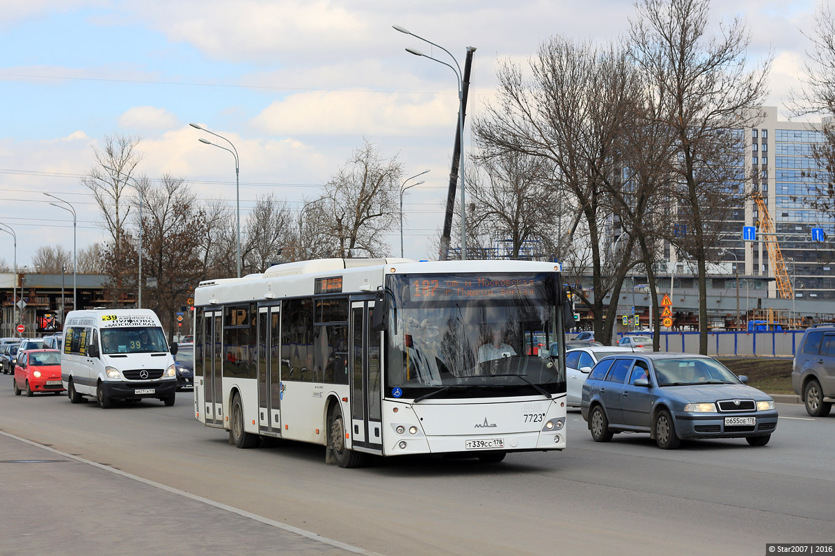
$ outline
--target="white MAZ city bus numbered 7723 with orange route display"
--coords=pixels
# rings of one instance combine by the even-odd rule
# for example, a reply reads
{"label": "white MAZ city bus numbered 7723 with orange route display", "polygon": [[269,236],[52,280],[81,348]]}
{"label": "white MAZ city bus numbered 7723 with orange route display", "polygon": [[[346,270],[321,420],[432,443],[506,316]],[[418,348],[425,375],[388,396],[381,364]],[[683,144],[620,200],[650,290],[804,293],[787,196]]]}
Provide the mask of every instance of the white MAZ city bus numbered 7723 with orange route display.
{"label": "white MAZ city bus numbered 7723 with orange route display", "polygon": [[[195,413],[259,437],[367,454],[565,448],[559,265],[331,258],[195,289]],[[538,346],[543,345],[540,351]]]}

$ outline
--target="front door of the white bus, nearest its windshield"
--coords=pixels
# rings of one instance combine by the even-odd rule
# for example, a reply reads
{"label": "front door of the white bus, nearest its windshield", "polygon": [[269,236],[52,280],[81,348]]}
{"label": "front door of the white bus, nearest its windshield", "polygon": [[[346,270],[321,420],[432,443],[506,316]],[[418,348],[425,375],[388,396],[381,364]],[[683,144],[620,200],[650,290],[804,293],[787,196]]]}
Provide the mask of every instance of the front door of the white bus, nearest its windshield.
{"label": "front door of the white bus, nearest its windshield", "polygon": [[374,300],[351,303],[352,447],[382,453],[382,353],[379,332],[372,332]]}

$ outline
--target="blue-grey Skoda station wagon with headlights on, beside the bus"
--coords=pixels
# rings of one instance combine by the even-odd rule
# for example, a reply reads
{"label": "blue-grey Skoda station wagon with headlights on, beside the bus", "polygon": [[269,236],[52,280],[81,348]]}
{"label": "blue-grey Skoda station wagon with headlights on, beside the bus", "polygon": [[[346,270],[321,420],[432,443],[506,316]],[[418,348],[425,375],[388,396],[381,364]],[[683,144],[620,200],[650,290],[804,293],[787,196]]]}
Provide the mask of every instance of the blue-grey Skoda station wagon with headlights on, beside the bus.
{"label": "blue-grey Skoda station wagon with headlights on, beside the bus", "polygon": [[777,428],[774,400],[714,358],[627,353],[602,358],[583,384],[580,409],[596,442],[650,433],[659,448],[682,438],[745,438],[765,446]]}

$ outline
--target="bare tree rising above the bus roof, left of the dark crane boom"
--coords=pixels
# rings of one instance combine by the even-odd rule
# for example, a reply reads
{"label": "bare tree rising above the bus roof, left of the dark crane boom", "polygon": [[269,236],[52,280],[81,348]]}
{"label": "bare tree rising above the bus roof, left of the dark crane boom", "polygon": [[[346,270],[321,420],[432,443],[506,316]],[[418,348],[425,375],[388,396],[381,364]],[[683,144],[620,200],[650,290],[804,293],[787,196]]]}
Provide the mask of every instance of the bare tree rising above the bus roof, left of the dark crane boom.
{"label": "bare tree rising above the bus roof, left of the dark crane boom", "polygon": [[317,207],[337,239],[339,256],[354,250],[379,257],[389,247],[383,236],[397,226],[402,163],[395,155],[383,158],[379,149],[363,138],[351,158],[325,185],[324,207]]}

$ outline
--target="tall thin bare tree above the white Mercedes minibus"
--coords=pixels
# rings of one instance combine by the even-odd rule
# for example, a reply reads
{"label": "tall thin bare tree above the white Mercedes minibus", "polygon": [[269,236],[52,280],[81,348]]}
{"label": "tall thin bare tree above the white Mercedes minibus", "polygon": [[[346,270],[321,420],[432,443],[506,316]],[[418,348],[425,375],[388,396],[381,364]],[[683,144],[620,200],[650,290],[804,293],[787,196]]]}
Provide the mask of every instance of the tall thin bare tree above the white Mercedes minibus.
{"label": "tall thin bare tree above the white Mercedes minibus", "polygon": [[107,256],[117,257],[104,267],[109,268],[114,301],[124,297],[127,276],[124,267],[119,265],[119,258],[130,249],[121,244],[128,237],[124,229],[131,203],[125,202],[125,188],[133,185],[131,180],[136,168],[142,161],[142,154],[137,147],[142,138],[124,135],[105,135],[104,148],[93,148],[96,165],[90,169],[81,182],[93,193],[104,220],[104,228],[109,234],[108,247],[103,250]]}

